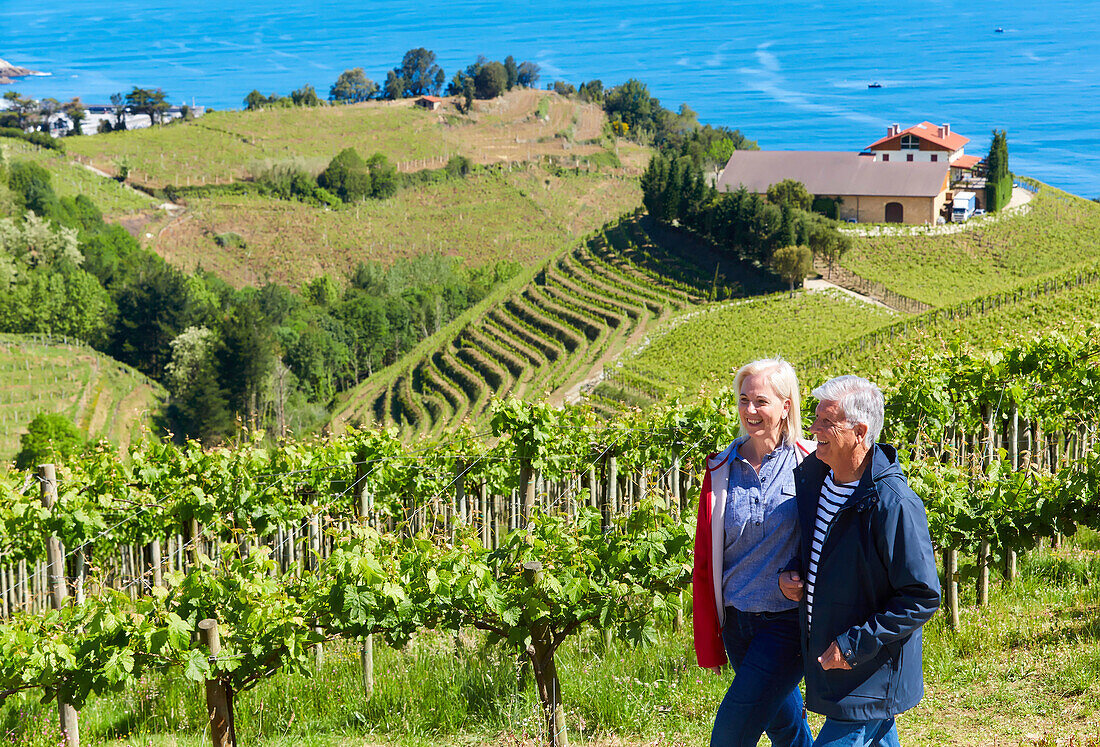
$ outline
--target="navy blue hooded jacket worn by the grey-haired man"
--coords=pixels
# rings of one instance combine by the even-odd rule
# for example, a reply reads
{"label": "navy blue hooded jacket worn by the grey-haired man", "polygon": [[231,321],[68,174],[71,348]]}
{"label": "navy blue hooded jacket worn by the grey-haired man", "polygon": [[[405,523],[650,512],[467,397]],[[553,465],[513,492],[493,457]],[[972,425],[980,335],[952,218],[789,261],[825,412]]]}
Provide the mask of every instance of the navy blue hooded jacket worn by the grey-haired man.
{"label": "navy blue hooded jacket worn by the grey-haired man", "polygon": [[[802,526],[810,541],[828,466],[811,454],[795,473]],[[893,447],[876,443],[870,468],[825,534],[814,583],[813,628],[802,600],[806,707],[847,721],[891,718],[924,695],[921,626],[939,606],[939,579],[924,504],[909,487]],[[817,657],[837,641],[850,670],[822,669]]]}

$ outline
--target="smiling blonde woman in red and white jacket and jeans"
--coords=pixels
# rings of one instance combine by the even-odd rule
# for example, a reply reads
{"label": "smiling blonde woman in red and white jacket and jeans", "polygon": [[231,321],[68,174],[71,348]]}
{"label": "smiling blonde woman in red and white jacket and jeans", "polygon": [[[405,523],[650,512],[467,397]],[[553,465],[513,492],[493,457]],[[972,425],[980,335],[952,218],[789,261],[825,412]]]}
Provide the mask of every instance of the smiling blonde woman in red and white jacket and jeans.
{"label": "smiling blonde woman in red and white jacket and jeans", "polygon": [[712,747],[810,747],[803,716],[798,605],[779,572],[799,548],[794,468],[802,440],[799,381],[791,364],[765,359],[734,378],[741,436],[707,459],[692,574],[695,656],[736,674],[718,706]]}

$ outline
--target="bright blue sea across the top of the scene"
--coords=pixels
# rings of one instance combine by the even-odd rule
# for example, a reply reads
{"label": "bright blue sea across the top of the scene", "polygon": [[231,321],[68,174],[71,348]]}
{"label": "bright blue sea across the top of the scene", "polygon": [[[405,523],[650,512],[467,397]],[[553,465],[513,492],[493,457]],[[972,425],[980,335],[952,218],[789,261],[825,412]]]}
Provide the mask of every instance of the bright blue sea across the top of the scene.
{"label": "bright blue sea across the top of the scene", "polygon": [[766,149],[858,150],[931,120],[983,155],[1003,128],[1013,171],[1086,197],[1100,196],[1098,39],[1100,3],[1068,0],[0,0],[0,58],[52,74],[9,87],[34,97],[142,86],[240,108],[253,88],[324,95],[349,67],[381,83],[416,46],[448,78],[512,54],[543,84],[637,77]]}

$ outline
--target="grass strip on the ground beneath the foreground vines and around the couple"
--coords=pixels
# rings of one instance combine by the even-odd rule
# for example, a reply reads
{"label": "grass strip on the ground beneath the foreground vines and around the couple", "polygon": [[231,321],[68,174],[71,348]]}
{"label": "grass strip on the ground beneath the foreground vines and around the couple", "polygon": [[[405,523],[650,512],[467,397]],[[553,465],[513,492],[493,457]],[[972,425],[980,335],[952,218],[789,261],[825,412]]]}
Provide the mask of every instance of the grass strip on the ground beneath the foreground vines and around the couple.
{"label": "grass strip on the ground beneath the foreground vines and around the couple", "polygon": [[[960,628],[925,627],[926,694],[899,718],[902,744],[952,747],[1100,745],[1100,538],[1021,559],[1011,587],[974,606],[964,561]],[[994,579],[994,581],[1000,581]],[[695,666],[691,626],[645,648],[605,647],[586,629],[558,655],[570,739],[581,745],[705,744],[728,685]],[[516,656],[476,636],[424,634],[404,650],[375,645],[376,690],[363,696],[358,649],[336,644],[312,677],[277,674],[238,696],[242,744],[538,745],[538,701]],[[151,679],[80,713],[87,745],[202,747],[204,695]],[[821,717],[811,714],[816,732]],[[56,708],[16,695],[0,707],[6,744],[56,745]],[[1075,741],[1070,743],[1069,740]],[[768,744],[762,739],[761,745]]]}

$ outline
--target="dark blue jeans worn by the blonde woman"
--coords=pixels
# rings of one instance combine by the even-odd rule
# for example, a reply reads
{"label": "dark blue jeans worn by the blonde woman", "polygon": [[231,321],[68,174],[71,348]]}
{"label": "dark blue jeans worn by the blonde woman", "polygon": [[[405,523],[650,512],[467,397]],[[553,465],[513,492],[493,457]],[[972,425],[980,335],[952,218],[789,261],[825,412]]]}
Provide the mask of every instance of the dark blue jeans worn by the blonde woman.
{"label": "dark blue jeans worn by the blonde woman", "polygon": [[799,613],[726,607],[722,642],[737,672],[718,706],[711,747],[756,747],[765,732],[773,747],[811,747],[802,716]]}

